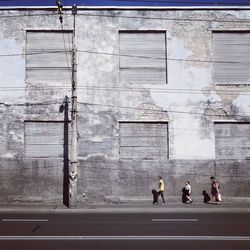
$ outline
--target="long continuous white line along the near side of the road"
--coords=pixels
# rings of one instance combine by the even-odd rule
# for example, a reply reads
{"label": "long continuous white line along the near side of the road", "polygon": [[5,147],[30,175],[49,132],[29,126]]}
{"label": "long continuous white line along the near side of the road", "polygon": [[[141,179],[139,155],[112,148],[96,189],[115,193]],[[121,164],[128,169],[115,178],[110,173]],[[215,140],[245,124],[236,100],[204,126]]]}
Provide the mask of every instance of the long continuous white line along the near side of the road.
{"label": "long continuous white line along the near side of the road", "polygon": [[183,241],[250,241],[248,236],[0,236],[0,241],[92,241],[92,240],[183,240]]}

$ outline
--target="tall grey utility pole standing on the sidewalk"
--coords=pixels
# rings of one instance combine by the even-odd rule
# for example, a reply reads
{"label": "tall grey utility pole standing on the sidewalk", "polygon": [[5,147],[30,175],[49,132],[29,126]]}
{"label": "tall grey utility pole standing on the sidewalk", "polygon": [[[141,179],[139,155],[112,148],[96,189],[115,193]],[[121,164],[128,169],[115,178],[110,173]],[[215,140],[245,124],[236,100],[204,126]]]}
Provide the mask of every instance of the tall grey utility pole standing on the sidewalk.
{"label": "tall grey utility pole standing on the sidewalk", "polygon": [[76,14],[77,6],[72,6],[73,37],[72,37],[72,108],[71,108],[71,157],[69,171],[69,208],[75,208],[77,204],[77,80],[76,80]]}

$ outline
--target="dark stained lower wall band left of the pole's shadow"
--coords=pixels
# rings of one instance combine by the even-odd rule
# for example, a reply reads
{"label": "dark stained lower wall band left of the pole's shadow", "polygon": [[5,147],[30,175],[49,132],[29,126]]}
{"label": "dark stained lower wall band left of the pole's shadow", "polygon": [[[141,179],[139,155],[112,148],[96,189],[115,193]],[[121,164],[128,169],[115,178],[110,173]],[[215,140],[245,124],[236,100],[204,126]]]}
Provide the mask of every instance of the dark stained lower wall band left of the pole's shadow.
{"label": "dark stained lower wall band left of the pole's shadow", "polygon": [[63,200],[61,160],[1,159],[1,202]]}

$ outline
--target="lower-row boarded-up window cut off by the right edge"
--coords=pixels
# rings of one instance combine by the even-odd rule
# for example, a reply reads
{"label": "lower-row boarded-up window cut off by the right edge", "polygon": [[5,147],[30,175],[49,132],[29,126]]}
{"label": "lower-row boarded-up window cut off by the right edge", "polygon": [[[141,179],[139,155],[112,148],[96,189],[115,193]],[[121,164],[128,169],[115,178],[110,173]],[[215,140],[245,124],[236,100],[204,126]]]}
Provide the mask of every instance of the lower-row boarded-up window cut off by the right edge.
{"label": "lower-row boarded-up window cut off by the right edge", "polygon": [[215,123],[217,159],[250,157],[250,123]]}

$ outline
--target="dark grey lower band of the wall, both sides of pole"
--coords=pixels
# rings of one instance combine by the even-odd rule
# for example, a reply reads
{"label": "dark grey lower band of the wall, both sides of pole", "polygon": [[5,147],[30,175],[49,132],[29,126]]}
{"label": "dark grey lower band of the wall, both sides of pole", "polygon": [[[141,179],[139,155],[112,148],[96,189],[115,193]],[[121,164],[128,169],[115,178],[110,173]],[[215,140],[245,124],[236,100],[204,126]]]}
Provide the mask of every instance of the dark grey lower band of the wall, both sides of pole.
{"label": "dark grey lower band of the wall, both sides of pole", "polygon": [[[61,160],[1,159],[0,202],[57,202],[67,195],[63,189]],[[192,194],[200,197],[210,191],[209,177],[217,177],[224,199],[248,198],[250,185],[247,161],[108,161],[102,157],[79,162],[78,201],[122,201],[151,199],[157,188],[157,175],[163,176],[166,197],[181,197],[189,180]]]}

